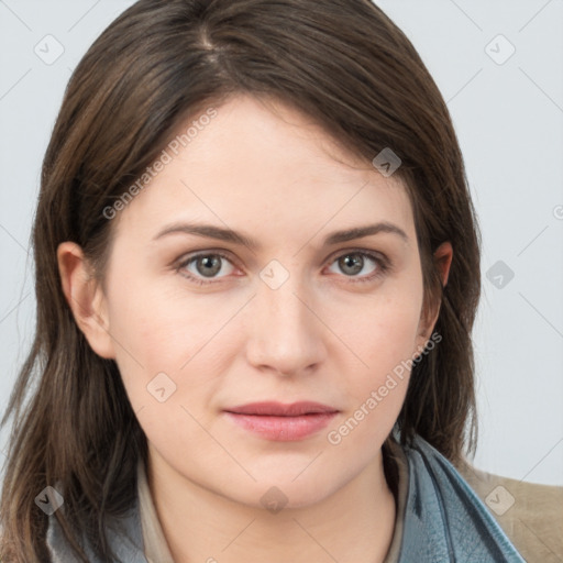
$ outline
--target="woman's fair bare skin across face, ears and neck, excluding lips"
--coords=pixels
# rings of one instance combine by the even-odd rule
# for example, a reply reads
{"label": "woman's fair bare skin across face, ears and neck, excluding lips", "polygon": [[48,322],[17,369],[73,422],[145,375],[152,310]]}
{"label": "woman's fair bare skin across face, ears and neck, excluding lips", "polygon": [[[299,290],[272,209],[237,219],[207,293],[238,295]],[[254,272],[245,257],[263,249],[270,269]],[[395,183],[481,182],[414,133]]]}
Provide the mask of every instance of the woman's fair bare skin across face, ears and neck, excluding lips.
{"label": "woman's fair bare skin across face, ears and neck, excluding lips", "polygon": [[[148,440],[150,486],[175,561],[383,561],[395,501],[380,446],[408,375],[338,445],[328,434],[420,351],[438,317],[422,311],[405,187],[289,107],[240,96],[114,221],[103,287],[70,242],[58,250],[63,287],[95,352],[118,363]],[[157,238],[187,221],[244,232],[260,247]],[[322,246],[333,231],[379,221],[407,240],[380,232]],[[185,264],[219,251],[228,258],[218,258],[214,277],[201,261]],[[357,251],[383,254],[388,269],[363,255],[351,274],[338,258]],[[449,243],[437,258],[445,282]],[[273,289],[261,273],[288,277]],[[159,373],[166,395],[176,386],[164,401],[147,390]],[[314,400],[340,412],[289,442],[251,434],[223,412],[262,400]],[[287,503],[276,514],[261,500],[272,487]]]}

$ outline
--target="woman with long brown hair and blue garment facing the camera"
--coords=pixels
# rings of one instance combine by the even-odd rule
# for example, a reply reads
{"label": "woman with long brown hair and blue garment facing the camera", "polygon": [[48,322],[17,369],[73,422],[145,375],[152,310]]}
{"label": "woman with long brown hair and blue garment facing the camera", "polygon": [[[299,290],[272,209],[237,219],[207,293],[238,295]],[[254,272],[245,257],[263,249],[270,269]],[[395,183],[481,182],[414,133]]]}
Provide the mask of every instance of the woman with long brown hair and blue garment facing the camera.
{"label": "woman with long brown hair and blue garment facing the camera", "polygon": [[462,155],[368,1],[136,2],[70,79],[34,247],[2,561],[523,561],[455,468]]}

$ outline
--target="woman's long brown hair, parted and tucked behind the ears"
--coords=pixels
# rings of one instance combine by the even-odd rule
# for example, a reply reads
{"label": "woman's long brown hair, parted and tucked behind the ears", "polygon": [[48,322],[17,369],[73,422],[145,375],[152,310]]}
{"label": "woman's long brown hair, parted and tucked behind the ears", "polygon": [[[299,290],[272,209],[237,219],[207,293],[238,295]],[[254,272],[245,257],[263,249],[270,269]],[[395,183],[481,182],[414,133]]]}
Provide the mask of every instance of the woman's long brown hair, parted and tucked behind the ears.
{"label": "woman's long brown hair, parted and tucked behind the ears", "polygon": [[[383,148],[415,212],[424,300],[442,341],[412,368],[397,427],[454,463],[475,439],[471,330],[479,236],[448,108],[404,33],[368,0],[141,0],[93,43],[70,78],[48,145],[33,230],[37,318],[3,417],[13,417],[0,517],[3,561],[46,561],[34,497],[60,483],[55,517],[103,561],[108,516],[136,496],[146,439],[113,361],[96,355],[62,291],[56,251],[74,241],[103,273],[111,206],[187,115],[236,93],[280,99],[371,162]],[[432,253],[453,246],[442,287]]]}

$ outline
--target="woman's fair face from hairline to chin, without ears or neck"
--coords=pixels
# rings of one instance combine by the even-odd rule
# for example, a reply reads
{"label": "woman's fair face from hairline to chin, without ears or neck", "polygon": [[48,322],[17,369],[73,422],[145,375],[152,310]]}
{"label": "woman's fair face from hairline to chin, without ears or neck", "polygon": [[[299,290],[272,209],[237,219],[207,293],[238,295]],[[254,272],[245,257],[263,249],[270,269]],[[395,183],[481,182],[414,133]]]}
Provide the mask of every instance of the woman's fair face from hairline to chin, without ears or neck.
{"label": "woman's fair face from hairline to chin, without ears or neck", "polygon": [[[183,124],[197,134],[114,219],[92,347],[115,358],[155,466],[298,506],[379,463],[429,331],[404,186],[276,107],[238,97]],[[272,401],[328,412],[228,412]]]}

